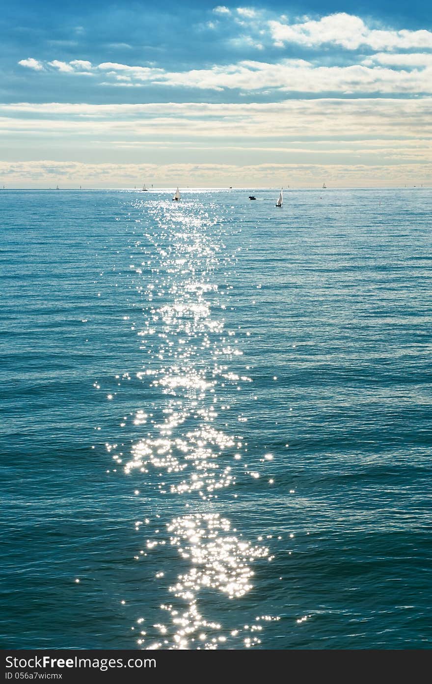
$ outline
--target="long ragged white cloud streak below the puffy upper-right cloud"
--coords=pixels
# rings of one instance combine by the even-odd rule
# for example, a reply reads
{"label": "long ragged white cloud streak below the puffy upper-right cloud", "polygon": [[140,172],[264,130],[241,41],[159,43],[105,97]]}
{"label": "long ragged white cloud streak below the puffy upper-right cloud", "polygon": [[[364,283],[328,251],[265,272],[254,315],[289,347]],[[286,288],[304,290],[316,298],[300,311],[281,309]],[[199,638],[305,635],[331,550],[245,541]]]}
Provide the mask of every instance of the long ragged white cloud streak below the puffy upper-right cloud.
{"label": "long ragged white cloud streak below the puffy upper-right cloud", "polygon": [[[241,47],[254,47],[262,50],[261,42],[251,36],[233,38],[232,44]],[[396,57],[394,57],[396,59]],[[397,57],[403,64],[402,57]],[[42,63],[40,63],[42,64]],[[103,62],[92,67],[85,60],[73,60],[67,64],[53,60],[49,66],[57,68],[62,73],[80,75],[101,75],[103,85],[119,86],[126,83],[140,86],[152,84],[157,86],[173,86],[183,88],[198,88],[200,90],[241,90],[243,92],[258,92],[269,90],[279,92],[304,93],[382,93],[382,94],[424,94],[432,92],[432,64],[429,56],[420,60],[418,55],[409,60],[405,57],[405,66],[409,70],[392,68],[392,56],[377,53],[377,57],[370,57],[360,64],[350,66],[319,66],[306,60],[279,60],[278,63],[241,60],[224,66],[215,65],[205,69],[191,69],[189,71],[167,72],[163,68],[154,66],[133,66],[118,62]],[[398,63],[399,64],[399,63]],[[421,66],[417,66],[417,64]],[[43,64],[42,64],[43,66]],[[81,71],[77,72],[76,68]]]}

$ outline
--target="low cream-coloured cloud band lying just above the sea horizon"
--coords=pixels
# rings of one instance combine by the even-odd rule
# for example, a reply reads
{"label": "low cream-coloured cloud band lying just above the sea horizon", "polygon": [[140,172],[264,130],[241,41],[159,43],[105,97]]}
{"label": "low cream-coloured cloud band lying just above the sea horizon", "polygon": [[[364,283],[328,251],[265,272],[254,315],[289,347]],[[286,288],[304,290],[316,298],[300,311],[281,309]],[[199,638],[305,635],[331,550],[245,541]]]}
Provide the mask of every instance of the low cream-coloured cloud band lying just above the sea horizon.
{"label": "low cream-coloured cloud band lying just above the sea horizon", "polygon": [[[386,187],[431,183],[432,164],[365,166],[343,164],[229,164],[229,163],[80,163],[73,161],[0,162],[0,174],[9,187],[133,187],[137,179],[150,179],[154,187],[169,187],[170,201],[174,183],[198,187],[313,187],[319,189],[325,178],[329,187]],[[61,181],[59,181],[61,179]],[[175,181],[174,181],[175,179]],[[320,179],[318,181],[318,179]],[[366,182],[365,182],[366,179]],[[295,192],[295,191],[294,191]]]}

